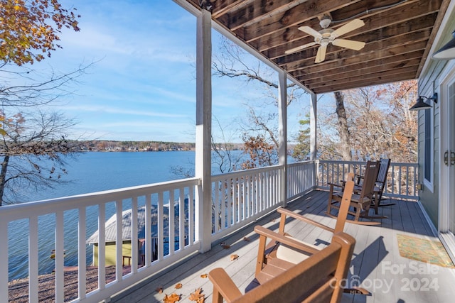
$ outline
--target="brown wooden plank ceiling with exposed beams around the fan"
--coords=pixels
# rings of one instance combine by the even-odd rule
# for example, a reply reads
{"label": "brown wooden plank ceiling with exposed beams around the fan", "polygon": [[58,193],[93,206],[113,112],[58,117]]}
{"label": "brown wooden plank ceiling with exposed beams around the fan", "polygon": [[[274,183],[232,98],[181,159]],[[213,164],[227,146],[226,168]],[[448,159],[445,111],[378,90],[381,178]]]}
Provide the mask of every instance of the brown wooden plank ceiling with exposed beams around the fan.
{"label": "brown wooden plank ceiling with exposed beams around the fan", "polygon": [[[212,13],[213,21],[316,94],[417,79],[450,0],[187,0]],[[329,44],[315,63],[319,45],[296,53],[286,50],[314,42],[299,31],[316,31],[322,16],[336,30],[353,18],[365,25],[340,38],[365,42],[361,50]]]}

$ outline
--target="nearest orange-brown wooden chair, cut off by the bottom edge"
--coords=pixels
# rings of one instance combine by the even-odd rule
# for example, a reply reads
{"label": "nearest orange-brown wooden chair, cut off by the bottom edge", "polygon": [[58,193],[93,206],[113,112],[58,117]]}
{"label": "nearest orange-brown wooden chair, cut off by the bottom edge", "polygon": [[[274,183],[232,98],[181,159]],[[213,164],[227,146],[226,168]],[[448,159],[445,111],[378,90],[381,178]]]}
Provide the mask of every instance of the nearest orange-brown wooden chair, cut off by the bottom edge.
{"label": "nearest orange-brown wooden chair, cut off by the bottom edge", "polygon": [[[259,228],[262,226],[256,226]],[[259,228],[260,229],[260,228]],[[267,237],[289,245],[289,238],[263,228]],[[262,235],[262,233],[259,233]],[[265,236],[261,236],[265,238]],[[298,243],[297,243],[298,244]],[[332,243],[311,257],[291,265],[267,282],[242,294],[223,268],[208,273],[213,283],[213,302],[341,302],[343,280],[348,275],[355,239],[336,233]],[[259,256],[258,256],[259,257]]]}

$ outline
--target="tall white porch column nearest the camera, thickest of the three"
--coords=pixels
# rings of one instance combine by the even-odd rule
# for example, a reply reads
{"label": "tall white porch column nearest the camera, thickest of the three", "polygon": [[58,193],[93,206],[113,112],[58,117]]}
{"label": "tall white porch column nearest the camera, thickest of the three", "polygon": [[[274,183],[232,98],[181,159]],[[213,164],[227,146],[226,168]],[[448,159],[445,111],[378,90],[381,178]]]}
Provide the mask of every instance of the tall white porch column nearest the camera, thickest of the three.
{"label": "tall white porch column nearest the camera, thickest of the three", "polygon": [[202,180],[196,192],[196,235],[201,241],[201,252],[210,250],[212,235],[212,28],[211,13],[205,9],[198,16],[196,37],[196,177]]}

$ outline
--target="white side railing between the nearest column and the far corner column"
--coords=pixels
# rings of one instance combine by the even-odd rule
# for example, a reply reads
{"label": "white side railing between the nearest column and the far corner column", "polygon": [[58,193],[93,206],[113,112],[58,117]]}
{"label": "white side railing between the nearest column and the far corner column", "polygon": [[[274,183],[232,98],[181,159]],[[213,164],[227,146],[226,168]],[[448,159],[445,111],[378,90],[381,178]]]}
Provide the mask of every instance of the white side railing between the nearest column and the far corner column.
{"label": "white side railing between the nearest column and the far corner column", "polygon": [[[316,187],[314,161],[287,167],[287,200]],[[212,241],[218,240],[283,204],[278,165],[212,177]]]}

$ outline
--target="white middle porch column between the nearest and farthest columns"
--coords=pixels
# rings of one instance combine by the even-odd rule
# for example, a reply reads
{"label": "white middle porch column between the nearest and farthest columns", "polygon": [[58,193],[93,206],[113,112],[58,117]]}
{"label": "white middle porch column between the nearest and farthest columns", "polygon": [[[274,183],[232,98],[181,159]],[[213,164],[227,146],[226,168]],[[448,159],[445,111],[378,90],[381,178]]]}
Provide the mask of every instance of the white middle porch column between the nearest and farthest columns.
{"label": "white middle porch column between the nearest and farthest columns", "polygon": [[278,71],[278,164],[282,177],[279,182],[279,199],[282,206],[287,204],[287,75],[284,70]]}

